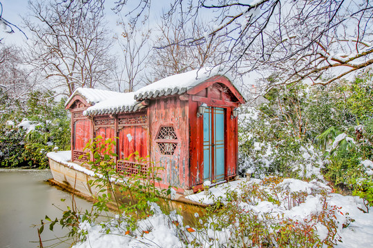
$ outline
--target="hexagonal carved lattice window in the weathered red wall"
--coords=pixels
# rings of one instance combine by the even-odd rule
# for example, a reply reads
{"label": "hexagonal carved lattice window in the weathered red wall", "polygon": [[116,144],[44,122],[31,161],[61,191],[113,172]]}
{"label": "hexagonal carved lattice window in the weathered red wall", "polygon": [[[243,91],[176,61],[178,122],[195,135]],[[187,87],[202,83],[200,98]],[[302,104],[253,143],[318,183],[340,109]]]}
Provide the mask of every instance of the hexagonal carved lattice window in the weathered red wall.
{"label": "hexagonal carved lattice window in the weathered red wall", "polygon": [[161,127],[156,139],[161,154],[173,155],[178,146],[178,136],[173,127]]}

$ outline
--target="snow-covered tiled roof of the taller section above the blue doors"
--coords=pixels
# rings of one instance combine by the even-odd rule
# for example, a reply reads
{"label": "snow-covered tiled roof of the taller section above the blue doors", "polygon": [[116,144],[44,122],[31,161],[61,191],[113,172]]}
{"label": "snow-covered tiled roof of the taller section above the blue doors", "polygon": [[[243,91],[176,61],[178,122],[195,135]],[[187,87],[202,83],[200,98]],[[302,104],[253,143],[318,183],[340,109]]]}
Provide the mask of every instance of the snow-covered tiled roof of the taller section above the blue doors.
{"label": "snow-covered tiled roof of the taller section above the blue doors", "polygon": [[[161,79],[160,81],[156,81],[155,83],[151,83],[137,90],[135,92],[135,99],[141,101],[144,99],[154,99],[160,96],[184,94],[192,87],[218,74],[227,76],[226,73],[220,72],[219,68],[200,68],[190,72],[168,76],[165,79]],[[229,76],[227,77],[229,78]]]}

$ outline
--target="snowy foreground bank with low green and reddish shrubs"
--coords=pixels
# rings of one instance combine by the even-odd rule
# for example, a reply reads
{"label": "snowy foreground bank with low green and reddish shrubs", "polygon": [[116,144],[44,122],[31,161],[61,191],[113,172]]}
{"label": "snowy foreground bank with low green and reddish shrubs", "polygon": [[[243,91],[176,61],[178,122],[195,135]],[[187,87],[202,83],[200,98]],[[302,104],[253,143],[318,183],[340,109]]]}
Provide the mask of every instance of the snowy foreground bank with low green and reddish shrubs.
{"label": "snowy foreground bank with low green and reddish shrubs", "polygon": [[[84,234],[74,248],[88,247],[368,247],[373,214],[358,209],[356,196],[331,194],[317,180],[271,177],[237,180],[188,196],[215,203],[195,214],[195,226],[183,225],[176,211],[138,220],[131,229],[126,218],[79,225]],[[353,223],[353,224],[352,224]],[[342,242],[340,242],[342,241]]]}

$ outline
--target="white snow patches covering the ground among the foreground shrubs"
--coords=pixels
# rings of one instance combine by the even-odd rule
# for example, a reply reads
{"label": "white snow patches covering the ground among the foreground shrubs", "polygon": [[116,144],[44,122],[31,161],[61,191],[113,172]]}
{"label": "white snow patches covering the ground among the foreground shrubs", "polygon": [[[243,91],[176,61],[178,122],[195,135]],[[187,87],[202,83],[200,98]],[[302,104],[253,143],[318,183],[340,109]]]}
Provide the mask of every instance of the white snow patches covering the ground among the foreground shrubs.
{"label": "white snow patches covering the ground among the foreground shrubs", "polygon": [[[328,229],[325,225],[313,220],[309,222],[310,216],[318,216],[327,209],[334,209],[330,212],[335,215],[337,235],[340,236],[341,242],[337,242],[336,247],[373,247],[373,209],[370,213],[365,213],[361,209],[365,209],[363,200],[357,196],[342,196],[341,194],[332,194],[330,189],[324,183],[317,180],[305,182],[287,178],[280,180],[276,184],[265,184],[262,180],[251,179],[246,182],[245,178],[236,180],[222,185],[217,185],[209,189],[209,194],[200,192],[188,196],[191,200],[198,200],[202,203],[213,203],[220,199],[223,203],[227,203],[227,196],[231,192],[245,192],[245,189],[257,187],[264,190],[268,194],[276,193],[278,202],[268,201],[265,199],[253,198],[252,202],[238,200],[238,205],[243,210],[252,211],[257,216],[272,216],[270,220],[294,220],[296,223],[306,223],[312,225],[316,229],[316,234],[323,240],[328,235]],[[274,187],[274,185],[276,187]],[[253,188],[254,189],[254,188]],[[289,201],[291,195],[303,198],[298,203],[294,200]],[[274,194],[273,194],[274,196]],[[326,196],[326,197],[325,197]],[[325,200],[326,199],[326,200]],[[117,218],[111,223],[105,223],[106,227],[110,227],[109,234],[106,234],[106,229],[102,225],[90,225],[82,223],[80,228],[87,232],[86,240],[77,243],[74,248],[94,248],[94,247],[187,247],[186,242],[197,238],[200,243],[199,247],[221,247],[224,242],[229,242],[232,237],[233,225],[226,229],[213,230],[211,220],[208,223],[207,229],[191,228],[182,225],[182,216],[171,212],[166,215],[160,211],[160,208],[152,204],[154,210],[153,216],[149,216],[144,220],[140,220],[139,228],[135,231],[129,231],[126,225],[126,220]],[[276,216],[280,216],[277,217]],[[195,214],[198,221],[198,214]],[[120,220],[120,221],[119,221]],[[354,220],[354,221],[352,221]],[[202,223],[202,220],[200,219]],[[179,224],[180,223],[180,224]],[[202,237],[202,238],[201,238]],[[215,240],[215,241],[211,241]],[[218,240],[218,242],[216,242]],[[326,245],[324,247],[327,247]]]}

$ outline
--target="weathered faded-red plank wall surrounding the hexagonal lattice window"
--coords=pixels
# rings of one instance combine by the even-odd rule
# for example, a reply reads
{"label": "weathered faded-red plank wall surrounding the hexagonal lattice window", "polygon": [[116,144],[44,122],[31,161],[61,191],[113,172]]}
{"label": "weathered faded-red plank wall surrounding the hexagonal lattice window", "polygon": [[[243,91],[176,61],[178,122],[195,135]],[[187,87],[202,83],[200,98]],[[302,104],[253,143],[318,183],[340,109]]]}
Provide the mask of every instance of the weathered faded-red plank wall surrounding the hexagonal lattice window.
{"label": "weathered faded-red plank wall surrounding the hexagonal lattice window", "polygon": [[[151,161],[164,167],[160,172],[162,185],[178,187],[179,192],[189,187],[189,119],[188,102],[180,101],[179,96],[155,99],[148,110],[150,130]],[[157,136],[162,127],[173,127],[177,138]],[[165,139],[164,139],[165,138]],[[166,151],[176,144],[173,154],[162,154],[160,144],[166,144]]]}

